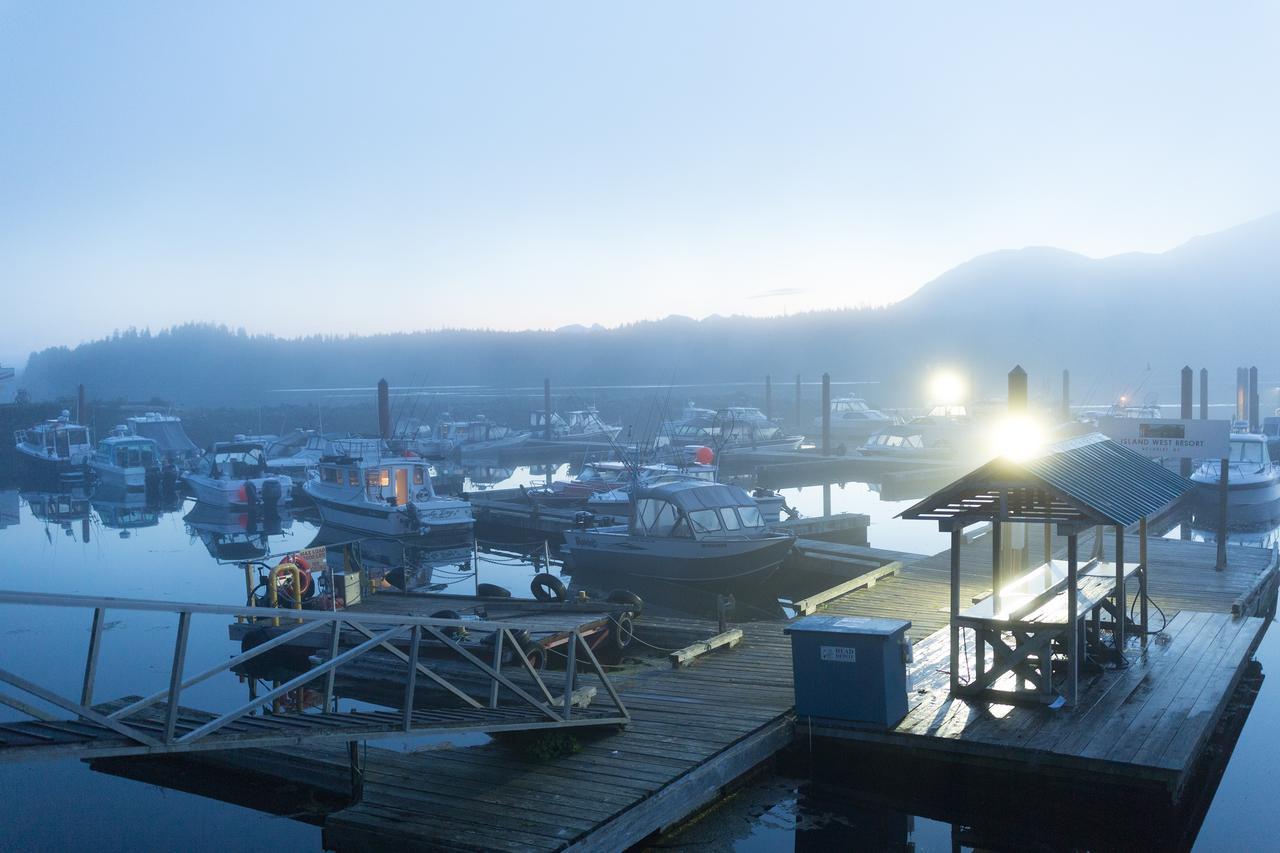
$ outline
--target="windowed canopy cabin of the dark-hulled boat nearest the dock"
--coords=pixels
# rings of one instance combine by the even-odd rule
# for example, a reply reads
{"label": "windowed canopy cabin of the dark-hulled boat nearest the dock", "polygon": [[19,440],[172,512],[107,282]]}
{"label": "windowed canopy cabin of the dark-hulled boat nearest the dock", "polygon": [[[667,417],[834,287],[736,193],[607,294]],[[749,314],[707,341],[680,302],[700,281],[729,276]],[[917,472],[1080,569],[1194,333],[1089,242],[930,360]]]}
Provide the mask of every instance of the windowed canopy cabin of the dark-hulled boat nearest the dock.
{"label": "windowed canopy cabin of the dark-hulled boat nearest the dock", "polygon": [[764,532],[764,517],[742,488],[680,480],[636,493],[631,532],[684,539],[736,539]]}

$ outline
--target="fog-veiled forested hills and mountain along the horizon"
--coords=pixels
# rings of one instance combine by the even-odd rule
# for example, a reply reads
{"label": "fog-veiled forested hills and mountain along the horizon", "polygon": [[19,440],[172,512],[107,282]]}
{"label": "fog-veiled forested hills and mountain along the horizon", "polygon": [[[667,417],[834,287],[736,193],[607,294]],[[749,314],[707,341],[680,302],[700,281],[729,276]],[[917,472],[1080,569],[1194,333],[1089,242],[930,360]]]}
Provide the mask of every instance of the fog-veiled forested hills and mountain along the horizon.
{"label": "fog-veiled forested hills and mountain along the horizon", "polygon": [[[1164,254],[1089,259],[1056,248],[998,251],[940,275],[884,309],[780,318],[669,316],[620,328],[440,330],[282,339],[210,325],[123,332],[33,353],[20,386],[36,398],[83,382],[99,398],[247,403],[273,389],[392,384],[612,386],[741,382],[772,374],[878,379],[882,405],[924,402],[931,366],[969,371],[978,394],[1015,362],[1046,391],[1062,368],[1110,402],[1147,365],[1160,384],[1183,364],[1216,386],[1238,364],[1268,365],[1263,336],[1280,283],[1280,214]],[[1088,384],[1084,384],[1088,383]],[[1172,393],[1165,393],[1165,402]]]}

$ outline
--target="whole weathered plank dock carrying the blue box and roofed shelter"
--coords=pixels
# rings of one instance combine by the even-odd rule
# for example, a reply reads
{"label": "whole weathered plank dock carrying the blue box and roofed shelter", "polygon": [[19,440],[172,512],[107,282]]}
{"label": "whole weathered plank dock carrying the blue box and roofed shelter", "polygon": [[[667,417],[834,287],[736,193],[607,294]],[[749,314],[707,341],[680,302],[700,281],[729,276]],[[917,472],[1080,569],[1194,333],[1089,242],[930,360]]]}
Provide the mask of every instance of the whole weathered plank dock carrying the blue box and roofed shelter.
{"label": "whole weathered plank dock carrying the blue box and roofed shelter", "polygon": [[[984,592],[983,549],[966,558],[966,596]],[[915,688],[908,717],[890,731],[813,724],[828,751],[890,751],[914,758],[1018,770],[1029,779],[1096,774],[1121,786],[1176,795],[1193,777],[1275,601],[1272,552],[1229,548],[1215,571],[1215,548],[1151,543],[1151,589],[1167,625],[1146,653],[1137,638],[1126,669],[1084,679],[1074,708],[1009,707],[946,694],[946,552],[895,566],[820,605],[823,612],[892,615],[913,621]],[[989,558],[989,555],[987,555]],[[1157,617],[1158,619],[1158,617]],[[645,620],[648,621],[648,620]],[[678,629],[709,622],[676,620]],[[1158,621],[1157,621],[1158,624]],[[575,734],[576,751],[540,761],[495,740],[420,752],[366,751],[364,797],[316,817],[325,845],[384,849],[623,849],[667,831],[714,803],[735,779],[788,744],[809,745],[809,721],[792,716],[791,648],[780,622],[740,625],[736,647],[709,651],[678,669],[663,657],[611,672],[631,722],[622,730]],[[970,652],[972,658],[972,652]],[[257,780],[323,789],[347,785],[344,749],[332,745],[257,749],[191,758]],[[119,765],[115,765],[119,767]],[[109,772],[110,763],[102,768]],[[137,774],[134,770],[128,772]],[[166,781],[165,784],[177,784]],[[195,783],[192,783],[195,784]]]}

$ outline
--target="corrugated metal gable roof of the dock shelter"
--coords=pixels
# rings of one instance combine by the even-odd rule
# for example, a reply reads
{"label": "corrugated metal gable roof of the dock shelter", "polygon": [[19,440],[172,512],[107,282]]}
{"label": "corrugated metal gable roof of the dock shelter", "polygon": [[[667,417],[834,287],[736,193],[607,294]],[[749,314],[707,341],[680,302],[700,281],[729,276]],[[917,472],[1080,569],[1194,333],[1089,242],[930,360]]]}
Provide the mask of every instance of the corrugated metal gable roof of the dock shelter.
{"label": "corrugated metal gable roof of the dock shelter", "polygon": [[1128,526],[1190,488],[1158,462],[1092,433],[1029,459],[995,459],[899,517],[936,520],[943,530],[989,520]]}

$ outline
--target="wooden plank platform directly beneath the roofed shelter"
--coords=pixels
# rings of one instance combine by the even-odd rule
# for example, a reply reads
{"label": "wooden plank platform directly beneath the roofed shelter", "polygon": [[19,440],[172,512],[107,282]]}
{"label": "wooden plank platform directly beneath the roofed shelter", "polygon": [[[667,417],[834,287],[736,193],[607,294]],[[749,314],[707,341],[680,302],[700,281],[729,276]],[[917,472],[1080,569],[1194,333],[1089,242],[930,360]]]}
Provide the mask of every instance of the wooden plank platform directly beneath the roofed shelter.
{"label": "wooden plank platform directly beneath the roofed shelter", "polygon": [[[1074,708],[1047,710],[952,699],[950,640],[943,629],[915,647],[915,692],[890,731],[814,721],[814,735],[890,747],[895,756],[960,758],[1037,775],[1153,785],[1181,793],[1204,743],[1266,631],[1266,620],[1183,611],[1143,652],[1126,647],[1128,669],[1082,683]],[[968,633],[966,633],[968,634]],[[966,643],[961,666],[973,666]],[[988,661],[989,661],[988,656]],[[800,721],[803,730],[810,724]]]}

